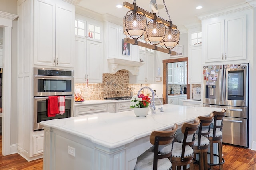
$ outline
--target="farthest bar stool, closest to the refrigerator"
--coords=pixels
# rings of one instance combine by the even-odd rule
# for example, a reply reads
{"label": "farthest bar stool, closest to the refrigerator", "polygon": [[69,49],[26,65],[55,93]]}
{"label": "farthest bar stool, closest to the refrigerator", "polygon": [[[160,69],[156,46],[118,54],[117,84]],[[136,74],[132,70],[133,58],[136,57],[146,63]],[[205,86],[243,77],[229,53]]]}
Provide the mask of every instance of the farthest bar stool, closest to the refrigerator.
{"label": "farthest bar stool, closest to the refrigerator", "polygon": [[[225,162],[224,158],[222,158],[222,127],[223,127],[223,118],[226,114],[226,109],[222,109],[220,112],[213,111],[214,114],[214,122],[213,128],[210,128],[209,141],[210,141],[210,168],[213,169],[213,166],[219,165],[220,170],[223,170],[223,164]],[[213,144],[217,143],[218,146],[218,155],[213,153]],[[217,156],[219,158],[219,163],[213,163],[213,156]]]}

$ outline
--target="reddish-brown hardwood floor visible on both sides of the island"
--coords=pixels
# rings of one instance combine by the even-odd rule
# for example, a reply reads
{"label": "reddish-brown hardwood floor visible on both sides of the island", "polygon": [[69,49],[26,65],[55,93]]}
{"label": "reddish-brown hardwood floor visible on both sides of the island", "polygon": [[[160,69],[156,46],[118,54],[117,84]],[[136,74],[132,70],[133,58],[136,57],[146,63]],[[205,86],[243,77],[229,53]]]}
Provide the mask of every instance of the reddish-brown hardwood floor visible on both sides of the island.
{"label": "reddish-brown hardwood floor visible on both sides of the island", "polygon": [[[256,170],[256,151],[231,145],[223,145],[224,170]],[[19,154],[2,155],[2,134],[0,134],[0,170],[42,170],[43,159],[26,161]],[[86,168],[85,168],[86,169]],[[214,166],[213,170],[218,170]],[[194,165],[198,170],[198,165]]]}

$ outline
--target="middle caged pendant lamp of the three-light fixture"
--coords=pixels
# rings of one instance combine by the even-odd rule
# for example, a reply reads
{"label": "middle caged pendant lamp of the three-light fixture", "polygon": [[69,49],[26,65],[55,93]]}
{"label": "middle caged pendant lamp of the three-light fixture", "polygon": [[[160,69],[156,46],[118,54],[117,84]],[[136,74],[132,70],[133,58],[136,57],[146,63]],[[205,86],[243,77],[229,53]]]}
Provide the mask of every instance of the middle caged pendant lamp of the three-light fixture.
{"label": "middle caged pendant lamp of the three-light fixture", "polygon": [[153,13],[155,18],[148,22],[144,40],[152,45],[158,45],[165,35],[165,25],[163,22],[156,20],[156,13]]}

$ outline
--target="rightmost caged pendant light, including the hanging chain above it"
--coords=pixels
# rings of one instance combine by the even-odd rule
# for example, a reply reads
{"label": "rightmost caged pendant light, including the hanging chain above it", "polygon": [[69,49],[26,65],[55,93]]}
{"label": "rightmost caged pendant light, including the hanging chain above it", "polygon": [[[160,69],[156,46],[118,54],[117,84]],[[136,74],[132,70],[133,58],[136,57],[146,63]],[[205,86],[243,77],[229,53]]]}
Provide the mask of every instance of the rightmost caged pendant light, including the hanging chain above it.
{"label": "rightmost caged pendant light, including the hanging chain above it", "polygon": [[166,49],[173,49],[176,45],[179,44],[180,41],[180,31],[172,27],[172,20],[170,19],[170,15],[168,13],[167,7],[165,5],[165,1],[163,0],[164,7],[169,18],[170,25],[165,29],[165,36],[162,42],[160,42],[161,47],[165,47]]}

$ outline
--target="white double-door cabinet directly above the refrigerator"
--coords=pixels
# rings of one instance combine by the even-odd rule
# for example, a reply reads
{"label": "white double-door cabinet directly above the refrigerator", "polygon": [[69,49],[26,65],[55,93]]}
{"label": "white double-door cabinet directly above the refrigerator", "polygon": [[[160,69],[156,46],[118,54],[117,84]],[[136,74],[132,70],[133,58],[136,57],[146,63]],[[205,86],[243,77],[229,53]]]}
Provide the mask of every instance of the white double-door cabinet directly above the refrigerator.
{"label": "white double-door cabinet directly above the refrigerator", "polygon": [[246,15],[202,20],[205,62],[246,59]]}

